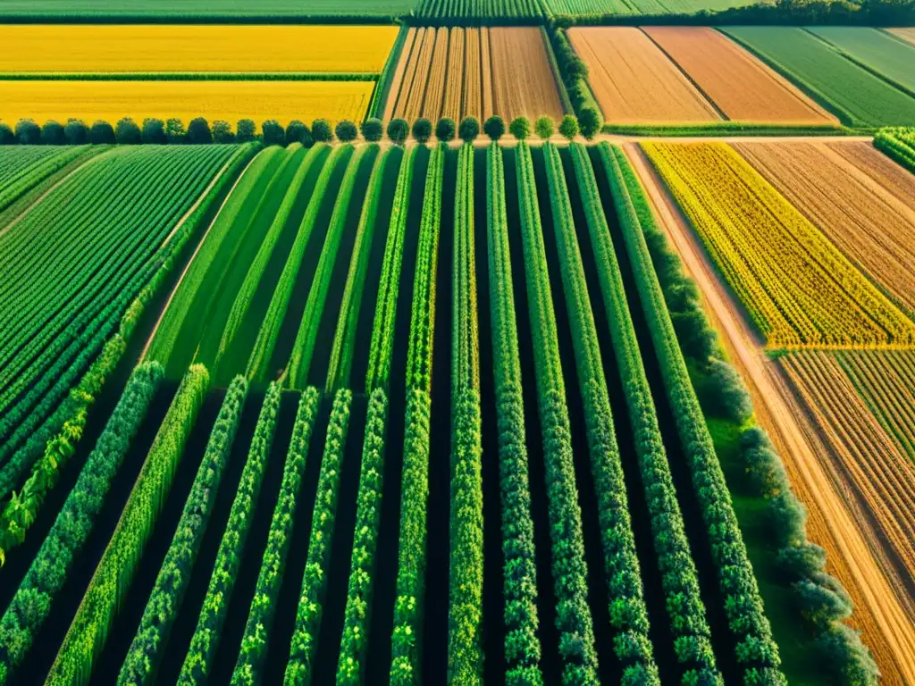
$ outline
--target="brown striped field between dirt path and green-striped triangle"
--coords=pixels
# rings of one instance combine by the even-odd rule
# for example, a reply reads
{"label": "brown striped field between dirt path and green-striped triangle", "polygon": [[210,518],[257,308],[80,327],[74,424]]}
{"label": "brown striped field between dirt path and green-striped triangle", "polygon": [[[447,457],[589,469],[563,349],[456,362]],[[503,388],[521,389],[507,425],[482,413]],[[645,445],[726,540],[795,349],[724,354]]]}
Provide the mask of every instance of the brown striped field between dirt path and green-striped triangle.
{"label": "brown striped field between dirt path and green-striped triangle", "polygon": [[[802,402],[845,492],[873,518],[887,572],[915,594],[915,465],[884,431],[834,355],[804,351],[779,364]],[[876,541],[875,541],[876,542]]]}

